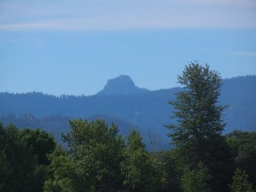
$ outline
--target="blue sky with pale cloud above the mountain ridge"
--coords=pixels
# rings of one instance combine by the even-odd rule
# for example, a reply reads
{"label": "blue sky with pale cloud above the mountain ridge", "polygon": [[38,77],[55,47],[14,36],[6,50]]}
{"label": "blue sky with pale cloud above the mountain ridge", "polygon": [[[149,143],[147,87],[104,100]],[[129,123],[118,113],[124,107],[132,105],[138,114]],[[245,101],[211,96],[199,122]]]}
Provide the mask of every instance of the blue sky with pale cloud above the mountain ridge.
{"label": "blue sky with pale cloud above the mountain ridge", "polygon": [[168,89],[191,61],[256,74],[255,0],[1,0],[0,92]]}

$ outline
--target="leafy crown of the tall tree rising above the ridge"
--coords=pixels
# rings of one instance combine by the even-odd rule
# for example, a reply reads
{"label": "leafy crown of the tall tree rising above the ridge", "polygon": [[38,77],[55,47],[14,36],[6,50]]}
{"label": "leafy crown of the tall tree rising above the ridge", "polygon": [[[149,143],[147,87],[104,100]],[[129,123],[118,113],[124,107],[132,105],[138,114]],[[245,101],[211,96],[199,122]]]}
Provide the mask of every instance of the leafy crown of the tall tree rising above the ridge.
{"label": "leafy crown of the tall tree rising above the ridge", "polygon": [[224,130],[221,113],[224,106],[218,106],[221,78],[210,67],[190,63],[178,83],[184,90],[177,92],[177,101],[170,102],[175,108],[173,118],[177,125],[168,125],[172,143],[190,154],[189,160],[196,166],[207,154],[207,143],[220,136]]}

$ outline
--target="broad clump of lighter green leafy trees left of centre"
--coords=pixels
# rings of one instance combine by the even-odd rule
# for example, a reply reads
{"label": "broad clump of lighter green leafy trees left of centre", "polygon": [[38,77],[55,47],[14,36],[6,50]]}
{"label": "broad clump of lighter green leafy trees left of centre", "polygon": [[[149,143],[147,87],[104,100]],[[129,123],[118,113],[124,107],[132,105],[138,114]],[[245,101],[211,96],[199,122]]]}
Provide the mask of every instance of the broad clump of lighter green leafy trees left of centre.
{"label": "broad clump of lighter green leafy trees left of centre", "polygon": [[118,128],[102,120],[77,119],[70,125],[63,135],[68,149],[58,147],[49,155],[53,177],[44,184],[45,192],[159,191],[154,159],[137,131],[125,143]]}

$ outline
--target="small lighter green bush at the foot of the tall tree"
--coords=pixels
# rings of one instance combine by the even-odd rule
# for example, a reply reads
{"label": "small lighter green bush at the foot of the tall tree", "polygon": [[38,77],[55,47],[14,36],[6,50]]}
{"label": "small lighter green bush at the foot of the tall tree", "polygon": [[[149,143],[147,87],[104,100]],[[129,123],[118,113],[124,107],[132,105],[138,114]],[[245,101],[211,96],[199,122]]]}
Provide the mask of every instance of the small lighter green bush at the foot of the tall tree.
{"label": "small lighter green bush at the foot of the tall tree", "polygon": [[209,181],[212,178],[210,172],[202,162],[194,170],[184,168],[181,179],[183,192],[210,192]]}

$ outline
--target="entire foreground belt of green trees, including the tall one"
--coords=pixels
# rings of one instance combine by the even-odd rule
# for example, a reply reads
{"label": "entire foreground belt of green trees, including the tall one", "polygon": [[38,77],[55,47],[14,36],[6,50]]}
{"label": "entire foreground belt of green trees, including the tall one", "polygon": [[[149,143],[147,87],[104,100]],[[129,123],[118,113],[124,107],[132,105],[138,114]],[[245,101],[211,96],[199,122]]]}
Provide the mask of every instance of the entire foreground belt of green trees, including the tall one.
{"label": "entire foreground belt of green trees, including the tall one", "polygon": [[69,120],[63,143],[49,131],[0,124],[0,191],[255,191],[256,132],[224,133],[219,74],[191,62],[178,82],[183,89],[166,104],[175,119],[165,126],[168,150],[149,151],[140,131],[121,134],[101,119]]}

